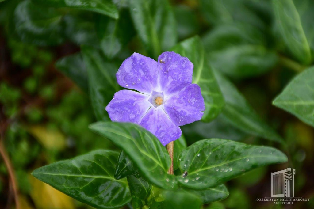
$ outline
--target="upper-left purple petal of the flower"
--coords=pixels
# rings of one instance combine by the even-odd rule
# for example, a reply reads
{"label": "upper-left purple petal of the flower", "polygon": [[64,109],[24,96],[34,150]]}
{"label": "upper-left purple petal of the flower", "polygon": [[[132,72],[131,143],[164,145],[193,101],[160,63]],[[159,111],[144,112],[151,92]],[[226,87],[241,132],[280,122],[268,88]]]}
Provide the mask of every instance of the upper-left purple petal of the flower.
{"label": "upper-left purple petal of the flower", "polygon": [[157,87],[157,62],[136,52],[122,62],[116,73],[120,86],[150,94]]}

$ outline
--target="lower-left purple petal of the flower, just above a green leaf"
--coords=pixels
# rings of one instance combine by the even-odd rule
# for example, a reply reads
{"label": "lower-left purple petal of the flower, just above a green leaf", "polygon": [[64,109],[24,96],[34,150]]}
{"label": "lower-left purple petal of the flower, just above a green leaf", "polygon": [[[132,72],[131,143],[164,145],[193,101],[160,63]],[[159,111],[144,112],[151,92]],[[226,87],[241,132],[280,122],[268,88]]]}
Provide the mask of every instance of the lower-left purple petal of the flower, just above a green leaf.
{"label": "lower-left purple petal of the flower, just above a green leaf", "polygon": [[150,106],[149,96],[131,90],[115,93],[106,110],[111,121],[137,123]]}

